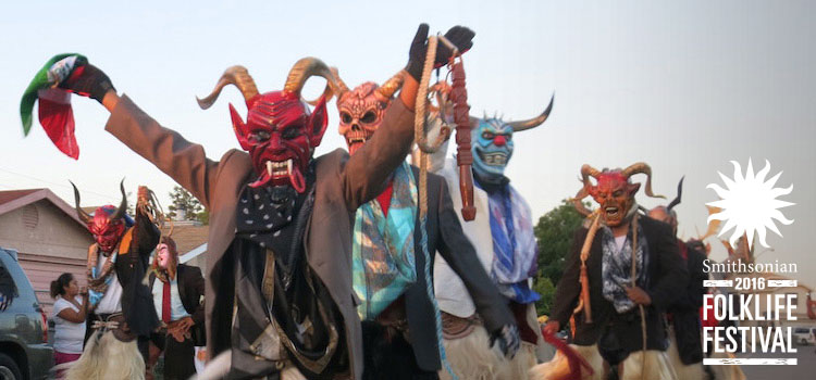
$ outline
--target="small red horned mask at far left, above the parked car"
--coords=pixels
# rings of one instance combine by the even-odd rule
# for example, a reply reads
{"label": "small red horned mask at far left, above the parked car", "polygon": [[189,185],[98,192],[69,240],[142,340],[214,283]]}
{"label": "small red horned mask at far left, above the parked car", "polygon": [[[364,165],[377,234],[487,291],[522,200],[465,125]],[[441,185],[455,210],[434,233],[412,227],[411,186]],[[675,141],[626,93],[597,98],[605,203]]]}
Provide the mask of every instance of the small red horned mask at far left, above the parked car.
{"label": "small red horned mask at far left, above the parked car", "polygon": [[99,251],[103,253],[113,252],[125,232],[127,198],[125,197],[124,180],[120,183],[120,190],[122,190],[122,202],[119,207],[114,207],[110,204],[100,206],[94,212],[94,216],[88,215],[88,213],[79,207],[79,190],[76,189],[74,182],[71,182],[71,186],[74,187],[76,214],[88,227],[88,231],[94,236],[94,240],[99,245]]}

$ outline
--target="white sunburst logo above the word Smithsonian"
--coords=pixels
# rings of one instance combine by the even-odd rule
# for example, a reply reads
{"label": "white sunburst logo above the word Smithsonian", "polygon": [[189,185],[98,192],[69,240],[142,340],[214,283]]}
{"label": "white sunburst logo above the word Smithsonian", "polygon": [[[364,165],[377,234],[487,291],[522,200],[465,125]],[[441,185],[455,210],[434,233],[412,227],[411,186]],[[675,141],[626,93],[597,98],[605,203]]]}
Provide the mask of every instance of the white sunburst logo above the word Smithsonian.
{"label": "white sunburst logo above the word Smithsonian", "polygon": [[722,173],[717,172],[726,189],[717,183],[709,183],[706,188],[713,189],[720,200],[706,203],[709,206],[720,207],[721,212],[708,216],[707,223],[712,220],[725,220],[725,226],[720,229],[718,237],[724,236],[728,230],[733,229],[729,242],[734,245],[737,240],[743,235],[747,236],[749,249],[754,232],[759,236],[759,244],[769,248],[765,242],[767,230],[774,231],[780,238],[775,220],[788,226],[793,223],[789,220],[779,208],[793,205],[794,203],[778,200],[781,195],[788,195],[793,190],[793,183],[788,188],[775,188],[779,176],[782,172],[777,173],[774,177],[765,178],[770,172],[770,163],[765,160],[765,167],[759,173],[754,174],[754,166],[749,159],[749,165],[745,169],[745,176],[742,175],[742,168],[735,161],[733,164],[733,179],[726,177]]}

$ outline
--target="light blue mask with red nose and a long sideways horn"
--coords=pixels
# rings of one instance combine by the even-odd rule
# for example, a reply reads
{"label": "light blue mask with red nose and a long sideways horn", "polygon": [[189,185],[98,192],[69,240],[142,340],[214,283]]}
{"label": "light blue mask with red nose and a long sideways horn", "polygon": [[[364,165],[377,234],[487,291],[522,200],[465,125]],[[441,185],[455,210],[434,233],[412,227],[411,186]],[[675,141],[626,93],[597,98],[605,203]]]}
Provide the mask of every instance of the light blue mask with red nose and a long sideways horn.
{"label": "light blue mask with red nose and a long sideways horn", "polygon": [[541,115],[528,121],[504,122],[499,117],[477,118],[471,116],[471,151],[473,153],[473,172],[480,179],[499,181],[504,178],[507,163],[512,156],[512,135],[518,131],[535,128],[547,119],[553,111],[553,100]]}

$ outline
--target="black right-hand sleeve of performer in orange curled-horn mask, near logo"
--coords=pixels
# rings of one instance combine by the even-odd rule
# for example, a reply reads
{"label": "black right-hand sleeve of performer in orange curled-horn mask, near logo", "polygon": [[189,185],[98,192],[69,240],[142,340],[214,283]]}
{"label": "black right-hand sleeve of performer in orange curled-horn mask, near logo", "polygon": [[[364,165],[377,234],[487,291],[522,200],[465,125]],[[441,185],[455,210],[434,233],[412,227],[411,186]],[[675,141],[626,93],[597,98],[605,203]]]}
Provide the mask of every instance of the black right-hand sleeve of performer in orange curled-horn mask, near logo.
{"label": "black right-hand sleeve of performer in orange curled-horn mask, near logo", "polygon": [[[680,256],[680,250],[677,246],[671,227],[660,224],[655,227],[657,230],[657,252],[651,253],[652,257],[657,258],[657,273],[651,276],[654,281],[650,289],[646,290],[652,299],[652,305],[660,311],[666,311],[683,292],[677,291],[678,283],[688,283],[689,270],[685,263]],[[702,281],[701,281],[702,283]]]}

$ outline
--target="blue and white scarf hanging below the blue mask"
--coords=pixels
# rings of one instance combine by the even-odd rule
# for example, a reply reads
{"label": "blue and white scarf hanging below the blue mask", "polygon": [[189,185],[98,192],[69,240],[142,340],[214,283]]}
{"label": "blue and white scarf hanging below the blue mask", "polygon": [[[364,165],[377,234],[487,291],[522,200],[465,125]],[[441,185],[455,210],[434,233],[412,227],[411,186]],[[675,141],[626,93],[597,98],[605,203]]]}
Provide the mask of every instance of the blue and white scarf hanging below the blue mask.
{"label": "blue and white scarf hanging below the blue mask", "polygon": [[530,207],[509,183],[487,192],[493,238],[491,277],[503,295],[521,304],[539,301],[528,278],[536,271],[537,245]]}

